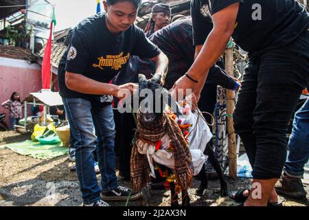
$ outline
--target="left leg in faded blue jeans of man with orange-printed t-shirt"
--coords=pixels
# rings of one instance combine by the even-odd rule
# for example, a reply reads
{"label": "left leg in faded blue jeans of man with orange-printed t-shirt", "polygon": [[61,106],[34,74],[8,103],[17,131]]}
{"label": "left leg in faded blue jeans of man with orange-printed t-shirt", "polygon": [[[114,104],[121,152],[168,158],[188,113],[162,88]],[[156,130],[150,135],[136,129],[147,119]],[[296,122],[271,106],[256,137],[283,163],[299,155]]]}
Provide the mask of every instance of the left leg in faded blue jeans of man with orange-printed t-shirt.
{"label": "left leg in faded blue jeans of man with orange-printed t-shirt", "polygon": [[82,98],[65,98],[68,120],[76,148],[76,171],[80,181],[80,190],[85,204],[101,199],[101,189],[93,169],[95,151],[94,126],[91,117],[91,103]]}

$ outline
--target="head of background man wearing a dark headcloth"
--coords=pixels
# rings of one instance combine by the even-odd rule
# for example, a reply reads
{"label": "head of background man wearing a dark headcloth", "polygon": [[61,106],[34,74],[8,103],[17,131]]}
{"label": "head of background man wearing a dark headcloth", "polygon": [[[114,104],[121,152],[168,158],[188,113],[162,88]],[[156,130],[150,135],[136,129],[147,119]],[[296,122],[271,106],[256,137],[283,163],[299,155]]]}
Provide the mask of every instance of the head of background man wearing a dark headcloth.
{"label": "head of background man wearing a dark headcloth", "polygon": [[151,17],[145,29],[146,36],[149,37],[161,28],[169,25],[171,14],[170,6],[163,3],[155,4],[152,7]]}

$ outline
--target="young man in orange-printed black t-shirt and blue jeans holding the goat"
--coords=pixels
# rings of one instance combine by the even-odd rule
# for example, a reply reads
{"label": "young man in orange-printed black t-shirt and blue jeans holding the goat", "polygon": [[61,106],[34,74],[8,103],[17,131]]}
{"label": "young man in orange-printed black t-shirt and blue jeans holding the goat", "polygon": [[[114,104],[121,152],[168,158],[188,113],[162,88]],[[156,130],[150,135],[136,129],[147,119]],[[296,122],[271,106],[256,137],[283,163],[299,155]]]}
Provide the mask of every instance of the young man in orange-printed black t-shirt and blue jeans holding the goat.
{"label": "young man in orange-printed black t-shirt and blue jeans holding the goat", "polygon": [[[65,71],[58,76],[60,95],[65,110],[69,111],[68,120],[75,140],[76,171],[84,206],[108,206],[105,201],[141,197],[117,183],[115,122],[111,107],[112,96],[124,98],[124,94],[132,93],[136,86],[133,83],[110,84],[126,67],[131,55],[155,61],[155,74],[160,74],[164,80],[168,58],[133,24],[140,3],[140,0],[104,1],[106,13],[89,17],[74,28],[65,53]],[[102,190],[93,170],[96,137],[91,111],[103,142],[98,147]]]}

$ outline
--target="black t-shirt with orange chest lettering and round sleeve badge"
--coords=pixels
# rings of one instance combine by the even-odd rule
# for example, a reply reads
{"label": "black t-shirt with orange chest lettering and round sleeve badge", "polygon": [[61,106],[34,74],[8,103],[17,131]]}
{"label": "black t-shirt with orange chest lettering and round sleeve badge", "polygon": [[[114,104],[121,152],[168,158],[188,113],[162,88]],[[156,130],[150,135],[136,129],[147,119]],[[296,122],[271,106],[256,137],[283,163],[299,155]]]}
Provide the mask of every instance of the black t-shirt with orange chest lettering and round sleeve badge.
{"label": "black t-shirt with orange chest lettering and round sleeve badge", "polygon": [[96,14],[74,28],[69,47],[59,64],[60,95],[64,98],[87,98],[106,101],[96,95],[81,94],[65,85],[65,71],[82,74],[101,83],[109,83],[128,62],[131,55],[153,58],[160,50],[132,25],[114,35],[106,27],[105,14]]}

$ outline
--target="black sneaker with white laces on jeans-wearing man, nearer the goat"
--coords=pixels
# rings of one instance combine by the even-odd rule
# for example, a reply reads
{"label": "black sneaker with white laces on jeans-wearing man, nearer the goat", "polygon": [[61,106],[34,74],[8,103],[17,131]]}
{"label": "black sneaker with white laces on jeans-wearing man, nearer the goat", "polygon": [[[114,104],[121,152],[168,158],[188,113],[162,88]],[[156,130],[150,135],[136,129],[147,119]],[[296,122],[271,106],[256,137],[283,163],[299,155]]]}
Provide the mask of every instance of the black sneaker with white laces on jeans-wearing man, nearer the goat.
{"label": "black sneaker with white laces on jeans-wearing man, nearer the goat", "polygon": [[141,192],[133,192],[130,188],[118,186],[115,190],[101,192],[102,199],[106,201],[133,201],[141,198]]}

